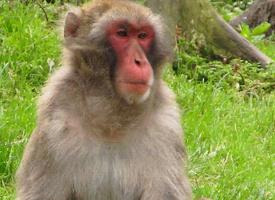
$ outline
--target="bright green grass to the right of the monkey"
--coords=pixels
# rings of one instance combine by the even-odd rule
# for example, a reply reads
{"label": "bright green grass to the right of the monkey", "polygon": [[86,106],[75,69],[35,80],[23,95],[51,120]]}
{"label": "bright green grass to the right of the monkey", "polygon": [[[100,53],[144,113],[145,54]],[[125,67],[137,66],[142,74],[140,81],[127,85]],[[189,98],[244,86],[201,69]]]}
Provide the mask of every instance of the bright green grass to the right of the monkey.
{"label": "bright green grass to the right of the monkey", "polygon": [[275,95],[244,100],[233,91],[168,77],[184,111],[196,196],[274,198]]}

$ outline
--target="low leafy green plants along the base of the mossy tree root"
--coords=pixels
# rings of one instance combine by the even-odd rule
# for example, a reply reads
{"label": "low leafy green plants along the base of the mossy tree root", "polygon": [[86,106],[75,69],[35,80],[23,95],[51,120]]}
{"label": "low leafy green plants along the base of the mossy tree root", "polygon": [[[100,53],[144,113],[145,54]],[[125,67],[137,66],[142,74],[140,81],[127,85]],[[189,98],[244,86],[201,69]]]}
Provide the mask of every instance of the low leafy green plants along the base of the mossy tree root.
{"label": "low leafy green plants along the base of the mossy tree root", "polygon": [[[253,35],[250,29],[250,35]],[[257,27],[255,35],[264,32]],[[261,40],[259,45],[266,41]],[[204,47],[201,47],[204,48]],[[275,49],[268,49],[273,52]],[[207,51],[207,50],[206,50]],[[213,60],[202,54],[195,40],[187,41],[184,38],[178,40],[177,57],[173,69],[177,75],[183,75],[188,81],[196,84],[211,84],[227,90],[234,89],[244,95],[259,96],[263,93],[273,92],[275,89],[275,66],[270,65],[262,69],[255,63],[249,63],[240,59],[229,61]],[[209,54],[208,54],[209,55]]]}

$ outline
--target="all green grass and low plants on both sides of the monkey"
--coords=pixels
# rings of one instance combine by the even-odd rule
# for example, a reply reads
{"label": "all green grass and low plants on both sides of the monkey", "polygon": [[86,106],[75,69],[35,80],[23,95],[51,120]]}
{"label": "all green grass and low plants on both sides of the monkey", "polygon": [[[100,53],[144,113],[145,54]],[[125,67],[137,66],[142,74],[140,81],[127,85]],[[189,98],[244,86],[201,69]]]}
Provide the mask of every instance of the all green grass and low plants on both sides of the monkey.
{"label": "all green grass and low plants on both sides of the monkey", "polygon": [[[45,7],[46,22],[36,4],[15,1],[11,8],[7,2],[0,2],[0,199],[12,200],[14,174],[35,125],[35,101],[58,67],[60,42],[53,6]],[[275,47],[263,43],[259,47],[274,56]],[[274,67],[209,62],[189,49],[178,52],[180,62],[165,79],[183,110],[195,198],[275,199]]]}

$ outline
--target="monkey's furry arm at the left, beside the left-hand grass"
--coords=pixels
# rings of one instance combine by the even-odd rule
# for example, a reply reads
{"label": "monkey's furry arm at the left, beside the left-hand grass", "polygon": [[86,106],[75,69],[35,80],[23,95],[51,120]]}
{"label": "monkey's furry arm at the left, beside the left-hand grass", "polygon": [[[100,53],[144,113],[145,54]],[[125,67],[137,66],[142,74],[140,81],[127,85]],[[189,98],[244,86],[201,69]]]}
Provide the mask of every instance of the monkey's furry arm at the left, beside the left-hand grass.
{"label": "monkey's furry arm at the left, beside the left-hand grass", "polygon": [[16,200],[66,200],[70,188],[59,173],[46,134],[32,134],[17,171]]}

